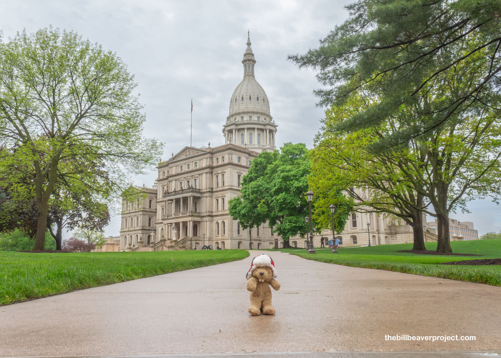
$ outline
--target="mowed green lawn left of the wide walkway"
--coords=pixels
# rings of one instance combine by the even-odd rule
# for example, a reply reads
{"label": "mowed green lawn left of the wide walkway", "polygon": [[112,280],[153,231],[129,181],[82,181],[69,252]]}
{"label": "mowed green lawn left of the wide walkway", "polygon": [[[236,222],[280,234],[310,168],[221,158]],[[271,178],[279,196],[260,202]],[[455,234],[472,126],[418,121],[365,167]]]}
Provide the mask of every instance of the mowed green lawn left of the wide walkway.
{"label": "mowed green lawn left of the wide walkway", "polygon": [[241,260],[245,250],[25,253],[0,251],[0,305]]}

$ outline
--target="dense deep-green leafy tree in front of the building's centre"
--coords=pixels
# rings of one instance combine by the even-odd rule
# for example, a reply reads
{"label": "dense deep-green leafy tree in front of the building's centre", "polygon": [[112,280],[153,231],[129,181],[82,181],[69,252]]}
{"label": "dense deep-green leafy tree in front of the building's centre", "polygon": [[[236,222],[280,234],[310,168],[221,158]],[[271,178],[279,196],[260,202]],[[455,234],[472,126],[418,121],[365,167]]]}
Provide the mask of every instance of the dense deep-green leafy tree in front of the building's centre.
{"label": "dense deep-green leafy tree in front of the building's centre", "polygon": [[264,151],[253,159],[242,178],[241,195],[228,201],[228,209],[243,229],[268,221],[274,232],[289,241],[307,233],[310,160],[303,143],[286,143],[280,149]]}

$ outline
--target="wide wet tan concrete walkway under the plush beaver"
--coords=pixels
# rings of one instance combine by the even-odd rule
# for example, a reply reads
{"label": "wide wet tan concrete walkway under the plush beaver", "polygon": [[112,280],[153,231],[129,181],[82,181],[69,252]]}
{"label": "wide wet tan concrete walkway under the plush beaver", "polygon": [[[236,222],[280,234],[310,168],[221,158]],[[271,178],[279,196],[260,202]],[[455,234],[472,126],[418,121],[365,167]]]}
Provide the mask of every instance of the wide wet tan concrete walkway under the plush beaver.
{"label": "wide wet tan concrete walkway under the plush beaver", "polygon": [[[277,314],[250,316],[245,273],[256,253],[0,307],[0,356],[501,348],[500,287],[280,252],[270,253],[282,284],[273,292]],[[476,340],[387,341],[385,334]]]}

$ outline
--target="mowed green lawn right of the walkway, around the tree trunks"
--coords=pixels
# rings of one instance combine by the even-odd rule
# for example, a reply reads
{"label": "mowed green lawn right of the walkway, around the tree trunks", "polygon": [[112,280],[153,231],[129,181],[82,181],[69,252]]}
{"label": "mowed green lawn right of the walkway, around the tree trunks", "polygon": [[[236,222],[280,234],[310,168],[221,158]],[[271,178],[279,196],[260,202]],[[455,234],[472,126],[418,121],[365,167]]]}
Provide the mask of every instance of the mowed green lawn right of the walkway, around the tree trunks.
{"label": "mowed green lawn right of the walkway, around the tree trunks", "polygon": [[[436,250],[436,242],[426,243],[427,250]],[[338,265],[433,276],[467,282],[501,286],[501,265],[438,265],[442,262],[501,258],[501,240],[451,242],[452,252],[482,256],[416,255],[399,250],[411,250],[412,244],[376,245],[371,247],[318,249],[308,254],[305,249],[281,249],[305,259]]]}

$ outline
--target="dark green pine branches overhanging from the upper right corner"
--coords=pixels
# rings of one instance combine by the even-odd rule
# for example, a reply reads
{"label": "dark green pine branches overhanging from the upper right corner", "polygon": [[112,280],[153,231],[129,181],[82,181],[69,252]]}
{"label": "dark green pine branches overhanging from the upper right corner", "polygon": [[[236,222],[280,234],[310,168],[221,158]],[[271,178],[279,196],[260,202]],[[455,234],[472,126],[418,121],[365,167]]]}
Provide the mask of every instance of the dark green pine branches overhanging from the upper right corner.
{"label": "dark green pine branches overhanging from the upper right corner", "polygon": [[[451,125],[471,106],[499,110],[501,81],[501,4],[486,0],[360,0],[346,7],[350,17],[337,26],[320,47],[289,56],[300,67],[317,69],[327,88],[316,90],[320,104],[343,105],[353,93],[378,87],[380,101],[337,129],[349,131],[376,126],[403,105],[422,101],[425,87],[444,82],[462,85],[455,96],[424,108],[421,118],[433,121],[405,126],[383,138],[380,148],[427,136]],[[451,69],[462,68],[455,72]],[[466,82],[463,73],[475,73]]]}

